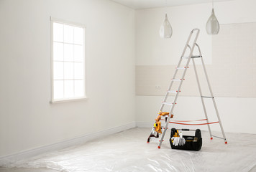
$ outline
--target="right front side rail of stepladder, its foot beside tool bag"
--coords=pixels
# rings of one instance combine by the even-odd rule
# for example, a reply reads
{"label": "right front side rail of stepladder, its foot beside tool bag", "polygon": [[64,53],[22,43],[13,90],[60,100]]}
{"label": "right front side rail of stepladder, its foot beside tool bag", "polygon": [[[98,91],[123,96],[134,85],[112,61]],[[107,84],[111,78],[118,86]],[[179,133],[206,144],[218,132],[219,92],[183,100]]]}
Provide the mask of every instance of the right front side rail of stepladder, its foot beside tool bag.
{"label": "right front side rail of stepladder, its foot beside tool bag", "polygon": [[[161,137],[161,139],[160,139],[160,143],[159,143],[159,145],[158,145],[158,148],[160,148],[161,145],[162,145],[162,143],[163,143],[163,138],[165,137],[165,133],[166,133],[166,130],[167,130],[167,128],[168,128],[168,124],[169,124],[169,121],[170,121],[170,116],[171,116],[171,114],[173,113],[173,110],[174,110],[174,107],[175,107],[175,103],[176,103],[176,101],[177,101],[177,99],[178,99],[178,95],[179,95],[179,92],[180,92],[180,88],[181,88],[181,85],[182,85],[182,83],[183,83],[183,79],[184,79],[184,77],[185,77],[185,75],[186,75],[186,72],[187,72],[187,70],[188,70],[188,65],[189,65],[189,62],[190,62],[191,57],[192,57],[192,54],[193,54],[193,49],[194,49],[195,46],[196,46],[196,41],[197,41],[197,39],[198,39],[198,35],[199,35],[200,30],[199,30],[199,29],[193,29],[193,30],[191,31],[191,34],[189,35],[189,38],[188,38],[188,41],[189,41],[189,40],[191,39],[191,36],[192,36],[193,32],[196,31],[196,30],[197,30],[197,33],[196,33],[196,37],[195,37],[194,42],[193,42],[193,46],[192,46],[192,48],[191,48],[191,52],[190,52],[189,57],[188,57],[188,62],[186,63],[186,68],[185,68],[185,70],[184,70],[184,72],[183,72],[183,76],[182,76],[182,78],[181,78],[180,85],[179,85],[179,87],[178,87],[178,92],[177,92],[177,94],[175,95],[175,99],[174,99],[174,101],[173,101],[173,106],[172,106],[172,108],[170,109],[170,113],[169,113],[170,115],[168,116],[168,120],[167,120],[166,123],[165,123],[165,129],[164,129],[163,134],[162,134],[162,137]],[[187,44],[186,44],[186,47],[188,47],[188,42],[187,42]],[[185,53],[185,52],[183,52],[183,53]],[[184,54],[183,54],[183,55],[184,55]],[[182,58],[182,57],[181,57],[181,58]]]}

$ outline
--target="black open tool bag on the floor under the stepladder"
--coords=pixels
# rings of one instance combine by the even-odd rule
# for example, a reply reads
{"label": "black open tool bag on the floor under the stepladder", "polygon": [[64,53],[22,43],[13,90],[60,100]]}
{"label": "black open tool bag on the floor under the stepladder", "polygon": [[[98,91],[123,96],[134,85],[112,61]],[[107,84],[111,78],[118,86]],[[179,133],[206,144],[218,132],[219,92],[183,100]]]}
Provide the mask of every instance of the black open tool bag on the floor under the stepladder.
{"label": "black open tool bag on the floor under the stepladder", "polygon": [[[189,129],[181,129],[185,131],[189,131]],[[184,145],[173,145],[173,135],[175,133],[178,133],[175,128],[172,128],[170,130],[170,147],[173,149],[182,149],[182,150],[191,150],[191,151],[199,151],[202,147],[202,137],[201,137],[201,130],[196,129],[195,136],[191,135],[183,135],[183,138],[185,138],[186,143]]]}

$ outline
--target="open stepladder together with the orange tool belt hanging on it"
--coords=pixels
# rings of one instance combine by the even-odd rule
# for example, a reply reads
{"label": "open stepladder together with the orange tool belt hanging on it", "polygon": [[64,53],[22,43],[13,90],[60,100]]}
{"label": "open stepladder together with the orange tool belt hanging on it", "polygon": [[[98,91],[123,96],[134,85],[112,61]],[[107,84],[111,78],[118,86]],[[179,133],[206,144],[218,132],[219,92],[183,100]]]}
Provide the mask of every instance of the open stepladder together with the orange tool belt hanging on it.
{"label": "open stepladder together with the orange tool belt hanging on it", "polygon": [[[181,57],[179,59],[177,67],[175,68],[175,72],[174,72],[174,75],[173,75],[172,80],[170,82],[170,85],[168,87],[168,90],[166,91],[163,102],[161,103],[160,110],[159,110],[159,113],[157,115],[157,118],[155,118],[155,123],[154,123],[154,126],[152,127],[150,136],[147,138],[147,143],[150,143],[150,141],[152,139],[157,138],[157,140],[159,140],[159,138],[160,138],[159,143],[158,143],[158,148],[161,148],[161,145],[162,145],[163,140],[165,138],[165,133],[168,130],[168,125],[170,123],[175,123],[175,124],[180,124],[180,125],[189,125],[189,124],[178,123],[177,121],[174,121],[173,120],[173,117],[174,117],[173,111],[174,111],[175,105],[177,105],[178,96],[180,94],[180,90],[181,90],[181,87],[183,85],[183,82],[186,82],[184,80],[185,80],[186,72],[189,68],[189,64],[190,64],[191,61],[193,63],[193,70],[194,70],[194,73],[196,75],[196,82],[197,82],[197,85],[198,85],[199,96],[200,96],[200,99],[201,99],[201,104],[202,104],[202,107],[204,109],[204,116],[205,116],[205,119],[198,120],[198,121],[203,121],[204,123],[193,124],[193,125],[207,125],[211,140],[213,138],[220,138],[220,139],[223,139],[224,143],[227,144],[227,138],[226,138],[226,135],[224,133],[223,125],[221,123],[221,118],[220,118],[219,111],[218,111],[218,108],[217,108],[217,105],[216,105],[216,100],[214,99],[214,93],[211,89],[211,85],[210,85],[210,82],[209,82],[209,76],[206,72],[206,66],[205,66],[205,63],[204,63],[204,59],[203,59],[203,56],[201,54],[201,49],[200,49],[199,45],[197,44],[199,33],[200,33],[199,29],[193,29],[191,31],[191,33],[189,34],[189,36],[188,36],[188,40],[187,40],[186,45],[183,49],[183,53],[181,54]],[[195,52],[197,52],[197,54],[194,54],[194,49],[198,50],[198,51],[195,51]],[[202,90],[201,90],[201,82],[199,80],[198,72],[197,72],[197,69],[196,69],[196,62],[195,62],[196,59],[201,60],[201,65],[202,65],[202,68],[203,68],[203,72],[204,72],[204,75],[205,75],[205,78],[206,78],[207,85],[209,87],[209,95],[204,95]],[[186,65],[183,65],[183,64],[186,64]],[[180,76],[178,75],[178,71],[181,71],[181,72],[179,72]],[[175,88],[173,88],[174,83],[176,83]],[[168,101],[169,97],[173,97],[171,99],[171,101]],[[208,118],[209,115],[207,114],[205,99],[211,99],[212,100],[212,103],[213,103],[214,109],[215,109],[214,113],[216,114],[216,118],[217,118],[217,121],[215,121],[215,122],[210,122],[209,121],[209,118]],[[168,109],[167,112],[163,112],[164,109]],[[219,123],[219,128],[221,130],[222,137],[212,135],[212,133],[211,133],[210,125],[211,124],[217,124],[217,123]]]}

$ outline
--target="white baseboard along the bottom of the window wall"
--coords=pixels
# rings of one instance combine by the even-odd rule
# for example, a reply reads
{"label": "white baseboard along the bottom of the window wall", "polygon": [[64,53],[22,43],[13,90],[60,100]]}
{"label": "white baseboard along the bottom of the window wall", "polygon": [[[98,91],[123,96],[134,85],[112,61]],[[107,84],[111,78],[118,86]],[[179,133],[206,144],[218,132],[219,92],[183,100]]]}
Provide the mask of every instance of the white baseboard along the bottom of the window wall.
{"label": "white baseboard along the bottom of the window wall", "polygon": [[134,128],[136,127],[136,122],[132,122],[132,123],[127,123],[126,125],[121,125],[118,127],[114,127],[114,128],[109,128],[106,130],[101,130],[99,132],[95,132],[95,133],[88,133],[86,135],[83,135],[79,138],[73,138],[70,140],[65,140],[63,142],[60,143],[54,143],[51,145],[45,145],[42,146],[40,148],[35,148],[35,149],[31,149],[28,151],[22,151],[19,153],[14,153],[12,155],[9,156],[1,156],[0,157],[0,166],[9,166],[10,164],[20,161],[22,159],[27,159],[27,158],[32,158],[33,156],[38,156],[42,153],[47,153],[47,152],[51,152],[51,151],[58,151],[60,149],[63,148],[68,148],[70,146],[73,145],[79,145],[81,143],[85,143],[89,140],[94,140],[96,138],[101,138],[104,137],[106,135],[111,135],[114,133],[118,133],[120,131],[123,130],[128,130],[130,128]]}

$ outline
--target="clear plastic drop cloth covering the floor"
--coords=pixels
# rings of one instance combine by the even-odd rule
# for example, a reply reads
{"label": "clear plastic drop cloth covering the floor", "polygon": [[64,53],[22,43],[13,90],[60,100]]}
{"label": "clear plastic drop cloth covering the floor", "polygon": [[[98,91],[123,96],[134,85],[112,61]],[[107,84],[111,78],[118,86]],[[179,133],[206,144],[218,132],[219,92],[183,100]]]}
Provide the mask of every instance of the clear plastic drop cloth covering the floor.
{"label": "clear plastic drop cloth covering the floor", "polygon": [[[46,153],[9,167],[83,171],[256,171],[256,135],[226,133],[224,140],[202,132],[201,151],[170,148],[170,132],[160,149],[146,143],[150,128],[132,128],[62,151]],[[183,133],[186,135],[186,133]],[[221,133],[214,133],[214,135]]]}

